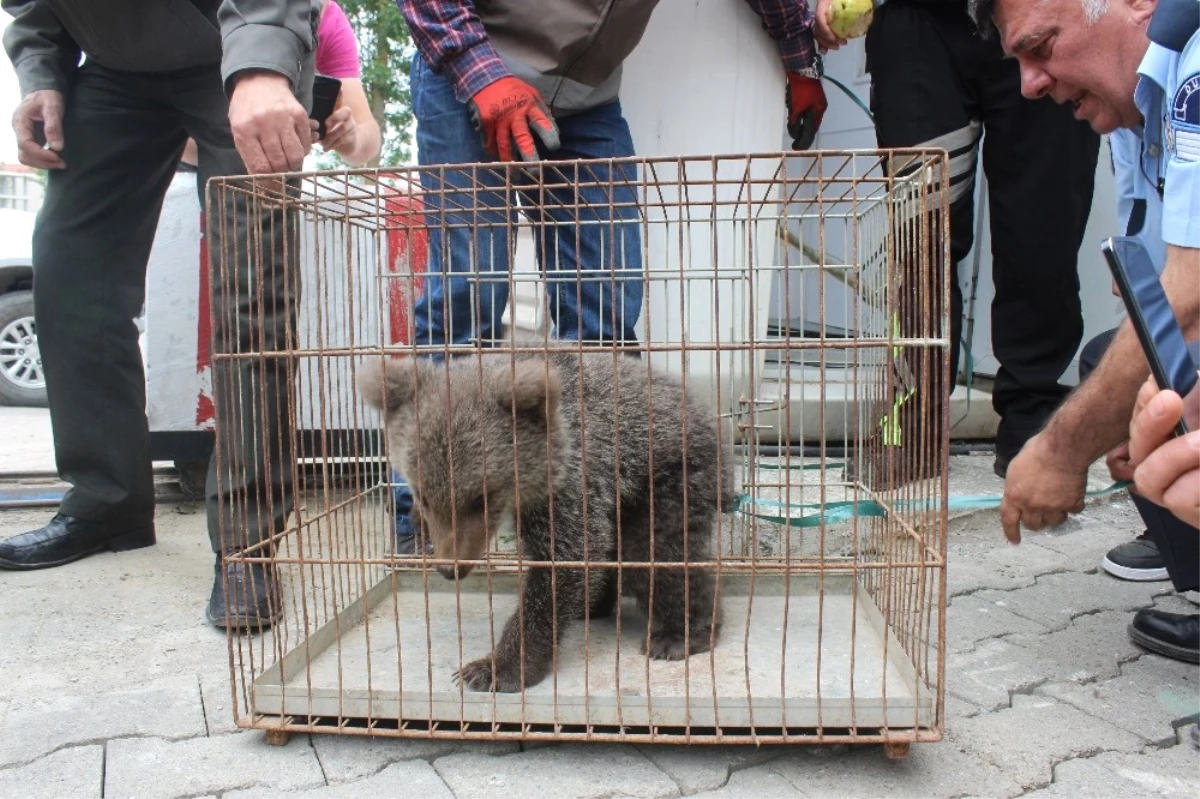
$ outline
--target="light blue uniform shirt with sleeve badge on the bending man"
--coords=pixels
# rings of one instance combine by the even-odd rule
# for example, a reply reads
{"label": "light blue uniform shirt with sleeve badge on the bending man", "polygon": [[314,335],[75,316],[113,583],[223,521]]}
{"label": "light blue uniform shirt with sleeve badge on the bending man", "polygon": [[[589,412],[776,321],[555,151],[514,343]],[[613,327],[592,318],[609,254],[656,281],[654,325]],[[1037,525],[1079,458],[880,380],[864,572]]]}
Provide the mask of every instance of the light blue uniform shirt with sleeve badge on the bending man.
{"label": "light blue uniform shirt with sleeve badge on the bending man", "polygon": [[1145,122],[1135,191],[1160,192],[1165,244],[1200,247],[1200,31],[1180,52],[1151,41],[1138,74]]}

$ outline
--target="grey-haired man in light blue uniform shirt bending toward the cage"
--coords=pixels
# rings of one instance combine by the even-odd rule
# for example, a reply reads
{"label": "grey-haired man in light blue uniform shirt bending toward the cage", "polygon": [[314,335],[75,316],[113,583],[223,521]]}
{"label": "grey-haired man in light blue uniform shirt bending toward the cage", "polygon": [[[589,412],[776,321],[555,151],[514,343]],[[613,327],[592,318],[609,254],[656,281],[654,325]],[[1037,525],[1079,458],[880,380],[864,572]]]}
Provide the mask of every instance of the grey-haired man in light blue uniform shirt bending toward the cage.
{"label": "grey-haired man in light blue uniform shirt bending toward the cage", "polygon": [[[1200,2],[973,0],[973,11],[980,29],[989,32],[994,24],[1016,58],[1026,96],[1069,103],[1098,133],[1136,133],[1135,180],[1144,181],[1138,191],[1162,199],[1160,230],[1144,235],[1165,242],[1163,287],[1184,336],[1200,338]],[[1021,524],[1040,530],[1082,510],[1088,465],[1127,440],[1148,373],[1126,322],[1091,374],[1013,461],[1001,505],[1009,541],[1020,541]],[[1156,531],[1176,589],[1200,587],[1194,531],[1187,524]],[[1200,662],[1200,618],[1147,608],[1129,632],[1148,649]]]}

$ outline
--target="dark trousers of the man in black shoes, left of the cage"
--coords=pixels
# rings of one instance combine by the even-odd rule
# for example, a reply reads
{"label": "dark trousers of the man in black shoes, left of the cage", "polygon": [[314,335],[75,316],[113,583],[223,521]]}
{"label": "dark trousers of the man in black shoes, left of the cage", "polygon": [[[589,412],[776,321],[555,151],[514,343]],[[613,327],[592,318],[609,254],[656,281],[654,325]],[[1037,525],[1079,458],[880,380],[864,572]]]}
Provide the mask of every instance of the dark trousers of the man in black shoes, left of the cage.
{"label": "dark trousers of the man in black shoes, left of the cage", "polygon": [[[300,101],[311,103],[311,66]],[[218,65],[168,73],[85,62],[66,92],[66,168],[52,170],[34,232],[35,319],[59,474],[60,511],[114,533],[152,524],[145,374],[134,318],[163,198],[187,137],[209,178],[245,174]],[[228,199],[212,208],[214,354],[282,349],[294,330],[296,280],[283,253],[294,220]],[[253,230],[253,235],[248,235]],[[286,246],[286,244],[288,246]],[[290,322],[289,322],[290,320]],[[214,552],[282,528],[292,509],[292,367],[283,360],[214,366],[217,455],[208,489]],[[218,534],[224,530],[226,540]]]}

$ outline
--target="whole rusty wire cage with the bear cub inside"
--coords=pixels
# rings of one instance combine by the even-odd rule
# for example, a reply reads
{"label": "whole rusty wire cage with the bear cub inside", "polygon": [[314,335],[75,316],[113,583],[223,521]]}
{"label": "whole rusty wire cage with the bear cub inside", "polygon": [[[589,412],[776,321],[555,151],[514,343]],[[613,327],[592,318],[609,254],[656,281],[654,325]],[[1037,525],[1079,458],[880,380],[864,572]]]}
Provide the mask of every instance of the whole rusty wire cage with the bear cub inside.
{"label": "whole rusty wire cage with the bear cub inside", "polygon": [[[940,150],[211,181],[221,535],[274,576],[238,723],[940,739],[947,182]],[[416,305],[450,263],[472,301]]]}

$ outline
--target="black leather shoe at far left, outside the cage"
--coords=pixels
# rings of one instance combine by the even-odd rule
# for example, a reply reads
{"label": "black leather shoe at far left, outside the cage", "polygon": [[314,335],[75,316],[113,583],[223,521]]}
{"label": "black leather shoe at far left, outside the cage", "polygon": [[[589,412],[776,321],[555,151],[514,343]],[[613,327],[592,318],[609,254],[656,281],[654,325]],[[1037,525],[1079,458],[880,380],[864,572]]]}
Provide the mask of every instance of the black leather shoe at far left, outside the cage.
{"label": "black leather shoe at far left, outside the cage", "polygon": [[46,527],[0,541],[0,569],[49,569],[104,549],[125,552],[154,543],[152,522],[114,531],[103,522],[55,513]]}

